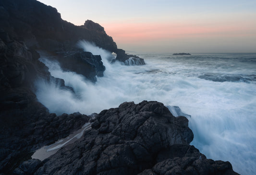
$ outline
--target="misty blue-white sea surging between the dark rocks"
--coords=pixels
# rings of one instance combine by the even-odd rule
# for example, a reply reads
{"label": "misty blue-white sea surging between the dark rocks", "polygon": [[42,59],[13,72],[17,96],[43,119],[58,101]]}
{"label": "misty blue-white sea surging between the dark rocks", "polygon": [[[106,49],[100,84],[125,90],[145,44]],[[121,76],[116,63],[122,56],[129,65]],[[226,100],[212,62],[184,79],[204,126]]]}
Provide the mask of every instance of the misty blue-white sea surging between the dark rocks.
{"label": "misty blue-white sea surging between the dark rocks", "polygon": [[124,66],[110,64],[111,54],[101,48],[86,42],[80,47],[101,55],[104,77],[91,83],[43,56],[40,59],[51,75],[64,79],[75,91],[38,80],[37,98],[50,112],[89,115],[143,100],[179,106],[191,116],[191,144],[200,152],[231,162],[242,175],[256,173],[256,54],[137,54],[146,65]]}

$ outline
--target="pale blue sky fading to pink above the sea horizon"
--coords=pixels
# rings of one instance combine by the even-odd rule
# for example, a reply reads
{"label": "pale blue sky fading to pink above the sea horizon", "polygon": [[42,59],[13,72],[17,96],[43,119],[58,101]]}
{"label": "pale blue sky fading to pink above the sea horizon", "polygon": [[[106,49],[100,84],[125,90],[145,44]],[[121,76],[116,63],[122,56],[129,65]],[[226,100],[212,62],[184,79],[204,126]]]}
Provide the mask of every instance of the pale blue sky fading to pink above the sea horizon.
{"label": "pale blue sky fading to pink above the sea horizon", "polygon": [[256,52],[256,0],[39,0],[138,53]]}

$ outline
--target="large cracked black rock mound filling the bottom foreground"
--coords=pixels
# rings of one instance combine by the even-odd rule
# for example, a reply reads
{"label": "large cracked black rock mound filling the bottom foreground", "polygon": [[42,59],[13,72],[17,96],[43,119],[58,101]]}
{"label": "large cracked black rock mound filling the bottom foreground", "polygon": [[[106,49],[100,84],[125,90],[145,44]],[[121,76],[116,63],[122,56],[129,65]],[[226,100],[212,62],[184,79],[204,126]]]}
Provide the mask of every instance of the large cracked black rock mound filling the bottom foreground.
{"label": "large cracked black rock mound filling the bottom foreground", "polygon": [[236,175],[229,162],[207,159],[189,145],[192,140],[188,120],[163,104],[125,102],[99,113],[83,140],[14,172],[20,175],[30,164],[38,168],[35,175]]}

